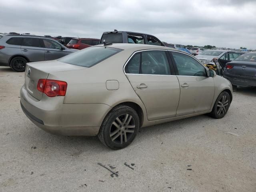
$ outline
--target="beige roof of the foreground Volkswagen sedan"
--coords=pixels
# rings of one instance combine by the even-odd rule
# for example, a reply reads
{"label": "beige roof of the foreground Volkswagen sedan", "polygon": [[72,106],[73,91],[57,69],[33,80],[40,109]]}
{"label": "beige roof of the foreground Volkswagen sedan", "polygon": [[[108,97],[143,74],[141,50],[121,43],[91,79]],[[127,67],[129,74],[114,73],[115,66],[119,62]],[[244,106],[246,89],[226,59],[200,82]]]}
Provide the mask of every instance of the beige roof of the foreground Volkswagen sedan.
{"label": "beige roof of the foreground Volkswagen sedan", "polygon": [[[96,45],[96,46],[104,47],[104,44],[100,44],[100,45]],[[106,47],[118,48],[118,49],[122,49],[122,50],[134,50],[134,51],[148,50],[148,49],[162,49],[162,50],[173,50],[176,52],[182,52],[182,53],[187,54],[187,52],[184,52],[182,50],[178,50],[178,49],[174,49],[174,48],[170,48],[170,47],[164,47],[164,46],[148,45],[148,44],[114,43],[111,45],[107,45]]]}

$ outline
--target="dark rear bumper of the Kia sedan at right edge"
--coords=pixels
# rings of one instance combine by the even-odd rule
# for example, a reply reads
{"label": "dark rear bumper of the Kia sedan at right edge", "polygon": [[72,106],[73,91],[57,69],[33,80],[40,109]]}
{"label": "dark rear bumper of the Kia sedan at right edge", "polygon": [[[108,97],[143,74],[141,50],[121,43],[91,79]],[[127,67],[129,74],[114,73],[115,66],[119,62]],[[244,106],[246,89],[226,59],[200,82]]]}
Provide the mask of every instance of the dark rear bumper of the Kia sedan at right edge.
{"label": "dark rear bumper of the Kia sedan at right edge", "polygon": [[234,75],[227,72],[224,72],[223,77],[228,79],[232,85],[241,87],[256,86],[256,77]]}

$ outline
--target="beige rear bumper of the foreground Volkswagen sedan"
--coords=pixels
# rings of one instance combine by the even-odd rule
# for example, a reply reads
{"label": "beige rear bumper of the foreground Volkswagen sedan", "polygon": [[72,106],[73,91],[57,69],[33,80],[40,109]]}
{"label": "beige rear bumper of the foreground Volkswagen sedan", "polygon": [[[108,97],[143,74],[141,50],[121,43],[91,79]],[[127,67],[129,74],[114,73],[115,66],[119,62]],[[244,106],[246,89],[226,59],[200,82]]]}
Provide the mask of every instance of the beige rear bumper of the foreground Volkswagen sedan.
{"label": "beige rear bumper of the foreground Volkswagen sedan", "polygon": [[106,104],[63,104],[64,97],[36,100],[23,86],[20,105],[26,116],[46,132],[69,136],[95,136],[110,111]]}

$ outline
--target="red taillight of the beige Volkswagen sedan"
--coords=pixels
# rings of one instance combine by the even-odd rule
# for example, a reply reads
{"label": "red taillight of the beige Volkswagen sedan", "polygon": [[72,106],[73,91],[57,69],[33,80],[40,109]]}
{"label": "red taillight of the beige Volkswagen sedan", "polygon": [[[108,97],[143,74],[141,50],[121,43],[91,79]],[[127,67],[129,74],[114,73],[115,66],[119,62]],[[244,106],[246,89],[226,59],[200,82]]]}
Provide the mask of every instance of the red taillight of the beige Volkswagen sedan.
{"label": "red taillight of the beige Volkswagen sedan", "polygon": [[48,97],[65,96],[68,84],[64,81],[39,79],[37,90],[45,93]]}

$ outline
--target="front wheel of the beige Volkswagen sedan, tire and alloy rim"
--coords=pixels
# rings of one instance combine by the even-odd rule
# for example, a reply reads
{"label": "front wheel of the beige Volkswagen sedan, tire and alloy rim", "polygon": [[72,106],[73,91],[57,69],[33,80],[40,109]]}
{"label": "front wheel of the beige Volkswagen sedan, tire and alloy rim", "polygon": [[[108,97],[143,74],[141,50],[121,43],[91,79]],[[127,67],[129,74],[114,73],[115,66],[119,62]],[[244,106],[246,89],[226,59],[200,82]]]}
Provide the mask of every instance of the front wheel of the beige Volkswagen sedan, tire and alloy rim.
{"label": "front wheel of the beige Volkswagen sedan, tire and alloy rim", "polygon": [[212,112],[210,112],[210,116],[216,119],[220,119],[226,115],[228,112],[228,108],[230,106],[230,95],[228,92],[222,92],[212,108]]}

